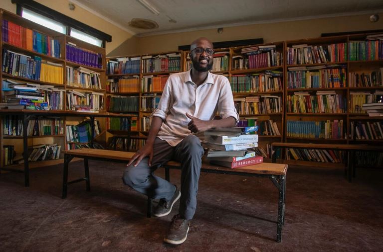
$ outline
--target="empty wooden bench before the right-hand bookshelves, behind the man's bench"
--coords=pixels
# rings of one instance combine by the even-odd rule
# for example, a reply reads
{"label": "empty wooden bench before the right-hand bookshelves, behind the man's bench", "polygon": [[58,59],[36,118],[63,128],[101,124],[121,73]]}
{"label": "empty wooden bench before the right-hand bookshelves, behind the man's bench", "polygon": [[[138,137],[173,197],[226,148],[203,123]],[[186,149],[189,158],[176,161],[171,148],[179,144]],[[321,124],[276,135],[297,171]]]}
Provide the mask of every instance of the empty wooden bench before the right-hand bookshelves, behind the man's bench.
{"label": "empty wooden bench before the right-hand bookshelves, behind the man's bench", "polygon": [[371,146],[371,145],[359,145],[359,144],[356,145],[356,144],[272,143],[270,146],[270,153],[273,154],[272,163],[276,163],[276,160],[277,160],[276,150],[284,149],[284,148],[345,151],[347,156],[345,174],[347,173],[350,182],[352,180],[352,176],[355,177],[355,163],[356,163],[355,152],[356,151],[383,152],[383,146]]}

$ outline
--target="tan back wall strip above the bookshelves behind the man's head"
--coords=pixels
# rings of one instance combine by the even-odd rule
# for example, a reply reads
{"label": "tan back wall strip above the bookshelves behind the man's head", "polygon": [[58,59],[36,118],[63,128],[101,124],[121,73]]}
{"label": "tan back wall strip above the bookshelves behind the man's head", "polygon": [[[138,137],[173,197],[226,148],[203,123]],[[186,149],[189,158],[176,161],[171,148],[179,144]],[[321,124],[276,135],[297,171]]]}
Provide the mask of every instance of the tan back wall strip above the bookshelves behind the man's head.
{"label": "tan back wall strip above the bookshelves behind the man's head", "polygon": [[318,18],[302,21],[289,21],[268,24],[253,24],[224,27],[221,34],[217,29],[170,33],[139,37],[137,54],[168,52],[178,50],[179,45],[188,45],[198,37],[207,37],[212,42],[263,38],[265,43],[320,37],[321,33],[383,29],[383,13],[376,23],[369,21],[368,15],[355,15],[332,18]]}

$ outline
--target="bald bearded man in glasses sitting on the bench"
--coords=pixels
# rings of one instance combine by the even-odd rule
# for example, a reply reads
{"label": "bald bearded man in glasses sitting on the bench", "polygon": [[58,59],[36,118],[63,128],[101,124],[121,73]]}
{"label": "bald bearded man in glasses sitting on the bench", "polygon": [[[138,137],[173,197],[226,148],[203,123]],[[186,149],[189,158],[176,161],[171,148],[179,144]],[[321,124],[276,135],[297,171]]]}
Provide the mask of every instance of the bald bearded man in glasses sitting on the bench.
{"label": "bald bearded man in glasses sitting on the bench", "polygon": [[[206,38],[192,42],[192,70],[171,75],[161,100],[152,113],[146,144],[132,157],[123,175],[125,184],[150,198],[160,199],[154,215],[162,217],[180,200],[164,241],[185,242],[196,208],[198,179],[203,149],[194,134],[211,128],[233,127],[238,122],[227,78],[209,73],[213,45]],[[213,120],[218,112],[222,118]],[[181,162],[181,192],[153,172],[170,160]]]}

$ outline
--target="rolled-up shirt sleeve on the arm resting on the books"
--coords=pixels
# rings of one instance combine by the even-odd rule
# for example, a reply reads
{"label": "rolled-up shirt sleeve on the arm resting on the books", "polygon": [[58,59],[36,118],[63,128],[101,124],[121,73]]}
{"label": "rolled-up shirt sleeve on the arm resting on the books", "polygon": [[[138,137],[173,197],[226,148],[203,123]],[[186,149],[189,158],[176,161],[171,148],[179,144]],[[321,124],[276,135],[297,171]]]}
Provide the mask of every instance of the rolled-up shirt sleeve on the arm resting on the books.
{"label": "rolled-up shirt sleeve on the arm resting on the books", "polygon": [[231,92],[230,83],[227,78],[224,78],[222,89],[218,99],[218,113],[219,116],[224,119],[228,117],[234,117],[237,124],[239,121],[239,115],[234,106],[233,93]]}

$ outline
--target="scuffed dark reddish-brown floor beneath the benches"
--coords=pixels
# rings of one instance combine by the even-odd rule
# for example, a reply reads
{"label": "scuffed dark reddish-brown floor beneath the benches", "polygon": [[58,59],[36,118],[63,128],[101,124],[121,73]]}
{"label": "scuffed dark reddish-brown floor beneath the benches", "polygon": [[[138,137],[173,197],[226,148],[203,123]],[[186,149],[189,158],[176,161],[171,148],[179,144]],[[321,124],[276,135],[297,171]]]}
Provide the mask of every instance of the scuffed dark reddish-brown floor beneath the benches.
{"label": "scuffed dark reddish-brown floor beneath the benches", "polygon": [[[123,164],[90,161],[91,191],[71,184],[61,199],[62,165],[0,174],[0,251],[382,251],[382,170],[290,167],[286,220],[276,243],[277,189],[269,179],[201,173],[187,241],[163,243],[178,204],[146,218],[146,197],[122,183]],[[180,170],[171,170],[179,185]],[[160,168],[157,174],[163,174]],[[69,178],[83,174],[70,165]]]}

